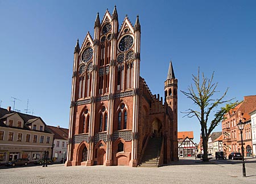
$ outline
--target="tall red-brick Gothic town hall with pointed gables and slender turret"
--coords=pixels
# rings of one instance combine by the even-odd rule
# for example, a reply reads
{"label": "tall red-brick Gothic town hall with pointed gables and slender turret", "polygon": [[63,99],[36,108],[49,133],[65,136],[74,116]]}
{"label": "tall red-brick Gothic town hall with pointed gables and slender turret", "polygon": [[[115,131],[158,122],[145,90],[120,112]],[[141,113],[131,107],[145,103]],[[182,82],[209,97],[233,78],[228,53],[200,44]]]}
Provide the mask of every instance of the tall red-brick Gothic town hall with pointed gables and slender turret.
{"label": "tall red-brick Gothic town hall with pointed gables and slender turret", "polygon": [[[66,166],[168,164],[177,157],[177,79],[172,63],[164,101],[140,76],[141,25],[117,9],[97,14],[74,52]],[[152,69],[153,70],[153,69]],[[160,85],[159,88],[162,88]]]}

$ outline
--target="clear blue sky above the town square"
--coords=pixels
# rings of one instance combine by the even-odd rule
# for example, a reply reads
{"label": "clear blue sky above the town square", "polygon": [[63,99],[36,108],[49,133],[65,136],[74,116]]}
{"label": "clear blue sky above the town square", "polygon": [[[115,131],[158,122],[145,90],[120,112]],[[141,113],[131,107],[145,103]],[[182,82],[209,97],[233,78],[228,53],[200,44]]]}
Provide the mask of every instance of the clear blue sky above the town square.
{"label": "clear blue sky above the town square", "polygon": [[[256,1],[1,1],[1,107],[68,128],[73,50],[100,18],[117,6],[119,25],[127,14],[141,23],[141,76],[153,94],[163,96],[170,60],[178,79],[178,131],[200,125],[183,118],[195,108],[186,91],[197,69],[208,77],[215,71],[216,97],[229,87],[226,99],[256,95]],[[221,131],[218,126],[215,131]]]}

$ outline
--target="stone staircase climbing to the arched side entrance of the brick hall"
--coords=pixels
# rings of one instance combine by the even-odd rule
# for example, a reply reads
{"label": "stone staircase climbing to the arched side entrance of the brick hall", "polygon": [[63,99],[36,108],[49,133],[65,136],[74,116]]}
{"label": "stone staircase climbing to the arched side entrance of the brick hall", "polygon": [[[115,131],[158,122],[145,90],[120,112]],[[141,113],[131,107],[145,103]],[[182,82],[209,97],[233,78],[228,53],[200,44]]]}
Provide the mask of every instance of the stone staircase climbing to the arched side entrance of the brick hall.
{"label": "stone staircase climbing to the arched side entrance of the brick hall", "polygon": [[144,155],[141,159],[139,167],[158,167],[160,159],[160,151],[162,146],[162,138],[154,137],[149,138]]}

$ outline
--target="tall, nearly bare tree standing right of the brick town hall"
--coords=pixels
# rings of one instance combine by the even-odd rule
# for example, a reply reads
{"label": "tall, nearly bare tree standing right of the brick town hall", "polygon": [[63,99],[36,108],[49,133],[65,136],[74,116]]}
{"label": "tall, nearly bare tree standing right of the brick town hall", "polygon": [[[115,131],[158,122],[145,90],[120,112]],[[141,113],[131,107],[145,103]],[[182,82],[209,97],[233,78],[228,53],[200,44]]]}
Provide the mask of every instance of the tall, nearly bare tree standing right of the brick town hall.
{"label": "tall, nearly bare tree standing right of the brick town hall", "polygon": [[[193,75],[193,83],[188,87],[188,92],[181,91],[188,99],[191,99],[199,110],[188,109],[184,115],[184,117],[196,117],[201,125],[201,136],[203,139],[203,161],[208,161],[207,149],[208,149],[208,138],[210,133],[214,130],[214,128],[222,121],[224,118],[224,114],[229,112],[230,109],[234,108],[238,104],[238,102],[230,102],[230,100],[224,100],[226,93],[228,92],[228,88],[224,92],[224,94],[219,99],[213,99],[213,95],[218,92],[216,91],[218,83],[213,83],[214,72],[210,79],[204,76],[202,73],[200,80],[200,70],[198,69],[197,76]],[[220,108],[215,111],[218,105],[225,104],[225,107]],[[214,113],[212,121],[209,122],[209,118],[211,113]],[[209,122],[209,123],[208,123]]]}

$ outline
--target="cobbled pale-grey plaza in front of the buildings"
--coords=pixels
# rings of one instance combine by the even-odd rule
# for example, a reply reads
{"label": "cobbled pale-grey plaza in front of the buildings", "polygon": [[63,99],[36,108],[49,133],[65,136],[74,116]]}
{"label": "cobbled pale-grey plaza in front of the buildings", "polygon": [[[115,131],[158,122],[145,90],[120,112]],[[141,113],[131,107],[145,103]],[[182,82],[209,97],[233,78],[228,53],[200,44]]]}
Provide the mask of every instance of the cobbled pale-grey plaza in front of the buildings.
{"label": "cobbled pale-grey plaza in front of the buildings", "polygon": [[63,164],[0,169],[0,183],[256,183],[256,159],[241,161],[180,159],[160,168],[70,166]]}

